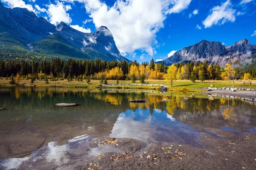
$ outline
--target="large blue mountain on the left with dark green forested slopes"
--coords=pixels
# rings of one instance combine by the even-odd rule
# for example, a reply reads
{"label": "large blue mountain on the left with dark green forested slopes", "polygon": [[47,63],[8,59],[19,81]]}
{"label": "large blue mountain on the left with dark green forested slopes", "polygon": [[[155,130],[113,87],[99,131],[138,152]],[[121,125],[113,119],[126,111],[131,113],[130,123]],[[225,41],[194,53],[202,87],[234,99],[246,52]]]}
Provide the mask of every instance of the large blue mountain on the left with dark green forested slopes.
{"label": "large blue mountain on the left with dark green forested slopes", "polygon": [[[116,47],[111,31],[101,26],[83,33],[61,22],[57,26],[26,8],[6,8],[0,2],[0,57],[28,53],[64,59],[127,60]],[[10,55],[12,56],[12,55]]]}

